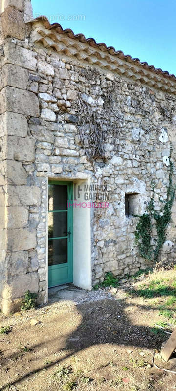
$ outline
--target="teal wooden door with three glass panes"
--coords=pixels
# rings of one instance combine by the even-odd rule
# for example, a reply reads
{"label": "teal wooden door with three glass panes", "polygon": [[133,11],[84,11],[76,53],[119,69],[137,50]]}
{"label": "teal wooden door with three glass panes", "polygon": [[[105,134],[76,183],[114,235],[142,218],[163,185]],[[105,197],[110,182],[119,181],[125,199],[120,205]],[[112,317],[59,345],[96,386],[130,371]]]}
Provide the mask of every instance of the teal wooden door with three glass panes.
{"label": "teal wooden door with three glass panes", "polygon": [[73,282],[73,184],[49,181],[48,287]]}

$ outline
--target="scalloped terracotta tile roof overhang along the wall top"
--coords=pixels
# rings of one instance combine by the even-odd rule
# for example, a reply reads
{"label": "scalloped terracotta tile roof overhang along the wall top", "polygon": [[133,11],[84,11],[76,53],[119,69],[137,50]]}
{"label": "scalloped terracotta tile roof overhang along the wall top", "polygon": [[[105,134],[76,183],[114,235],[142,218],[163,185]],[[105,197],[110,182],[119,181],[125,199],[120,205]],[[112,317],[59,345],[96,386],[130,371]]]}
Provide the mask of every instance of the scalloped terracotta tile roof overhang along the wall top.
{"label": "scalloped terracotta tile roof overhang along the wall top", "polygon": [[116,51],[105,43],[96,43],[93,38],[85,38],[83,34],[74,34],[71,29],[63,30],[60,24],[50,24],[44,16],[39,16],[29,23],[32,24],[33,43],[42,43],[45,48],[52,48],[69,58],[84,61],[88,65],[97,65],[104,71],[117,73],[169,94],[176,94],[176,76],[167,71],[124,55],[121,50]]}

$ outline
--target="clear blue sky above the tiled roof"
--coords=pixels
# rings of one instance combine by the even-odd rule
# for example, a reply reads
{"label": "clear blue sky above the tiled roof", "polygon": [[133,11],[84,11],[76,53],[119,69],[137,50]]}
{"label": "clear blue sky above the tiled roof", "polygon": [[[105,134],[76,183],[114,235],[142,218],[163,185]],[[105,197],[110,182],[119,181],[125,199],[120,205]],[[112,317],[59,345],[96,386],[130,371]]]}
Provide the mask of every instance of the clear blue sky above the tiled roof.
{"label": "clear blue sky above the tiled roof", "polygon": [[83,33],[176,74],[176,0],[32,0],[33,15],[47,15]]}

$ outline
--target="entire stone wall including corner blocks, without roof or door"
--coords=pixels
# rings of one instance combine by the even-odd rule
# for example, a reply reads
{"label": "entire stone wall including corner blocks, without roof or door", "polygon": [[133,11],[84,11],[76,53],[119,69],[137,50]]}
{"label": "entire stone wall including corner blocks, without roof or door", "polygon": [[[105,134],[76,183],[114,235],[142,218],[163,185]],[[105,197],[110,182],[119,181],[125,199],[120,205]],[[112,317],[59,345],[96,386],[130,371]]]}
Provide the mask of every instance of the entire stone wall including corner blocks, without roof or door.
{"label": "entire stone wall including corner blocks, without roof or door", "polygon": [[[29,30],[22,38],[16,33],[5,37],[0,57],[1,290],[6,312],[27,289],[39,294],[39,302],[46,301],[48,178],[90,177],[92,184],[110,190],[109,208],[92,212],[95,284],[108,271],[125,275],[148,266],[134,241],[138,220],[125,216],[125,194],[136,194],[132,208],[142,214],[155,181],[159,208],[159,197],[166,197],[170,141],[176,163],[175,96],[34,45]],[[175,214],[174,205],[161,257],[165,262],[175,260]]]}

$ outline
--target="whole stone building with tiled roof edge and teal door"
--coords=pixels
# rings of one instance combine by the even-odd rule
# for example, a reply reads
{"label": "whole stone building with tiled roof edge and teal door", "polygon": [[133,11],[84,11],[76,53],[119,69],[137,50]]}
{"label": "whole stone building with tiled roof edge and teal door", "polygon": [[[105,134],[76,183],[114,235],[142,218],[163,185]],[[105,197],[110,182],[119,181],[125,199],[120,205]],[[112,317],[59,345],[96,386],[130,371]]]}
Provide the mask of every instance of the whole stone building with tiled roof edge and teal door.
{"label": "whole stone building with tiled roof edge and teal door", "polygon": [[[132,275],[153,264],[139,254],[133,215],[146,211],[153,182],[156,209],[166,199],[176,78],[33,20],[30,0],[3,0],[0,11],[0,293],[8,313],[27,290],[46,302],[48,282],[90,290],[109,271]],[[174,204],[166,263],[175,261],[175,213]]]}

